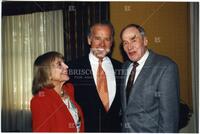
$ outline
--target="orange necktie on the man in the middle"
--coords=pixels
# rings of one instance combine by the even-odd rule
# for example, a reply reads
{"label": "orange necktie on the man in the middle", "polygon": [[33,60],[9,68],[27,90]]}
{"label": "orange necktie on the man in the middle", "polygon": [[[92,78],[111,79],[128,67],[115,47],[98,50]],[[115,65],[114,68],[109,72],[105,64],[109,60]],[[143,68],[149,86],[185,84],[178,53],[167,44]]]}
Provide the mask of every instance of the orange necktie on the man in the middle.
{"label": "orange necktie on the man in the middle", "polygon": [[108,98],[108,87],[106,74],[102,68],[102,60],[99,60],[99,67],[97,70],[97,91],[99,93],[99,97],[104,105],[106,111],[109,110],[109,98]]}

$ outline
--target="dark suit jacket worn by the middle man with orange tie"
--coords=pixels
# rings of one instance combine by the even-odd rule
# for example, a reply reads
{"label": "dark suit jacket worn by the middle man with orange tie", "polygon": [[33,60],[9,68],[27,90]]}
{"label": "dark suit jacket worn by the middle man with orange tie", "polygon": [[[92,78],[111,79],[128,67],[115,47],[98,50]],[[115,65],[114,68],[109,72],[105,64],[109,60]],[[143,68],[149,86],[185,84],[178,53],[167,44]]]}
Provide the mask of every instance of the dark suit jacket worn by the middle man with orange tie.
{"label": "dark suit jacket worn by the middle man with orange tie", "polygon": [[[121,63],[111,59],[114,71],[121,69]],[[69,75],[75,86],[75,99],[83,109],[86,132],[119,132],[120,118],[120,77],[116,76],[116,95],[108,112],[99,98],[89,62],[82,57],[68,63]]]}

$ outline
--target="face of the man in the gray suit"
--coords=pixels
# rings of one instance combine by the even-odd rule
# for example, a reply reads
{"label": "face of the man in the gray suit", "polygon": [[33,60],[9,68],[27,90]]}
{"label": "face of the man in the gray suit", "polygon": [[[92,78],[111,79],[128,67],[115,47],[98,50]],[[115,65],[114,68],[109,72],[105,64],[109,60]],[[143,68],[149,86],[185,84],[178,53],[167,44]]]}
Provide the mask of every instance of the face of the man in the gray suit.
{"label": "face of the man in the gray suit", "polygon": [[129,27],[122,33],[122,45],[131,61],[138,61],[146,52],[146,37],[142,37],[135,27]]}

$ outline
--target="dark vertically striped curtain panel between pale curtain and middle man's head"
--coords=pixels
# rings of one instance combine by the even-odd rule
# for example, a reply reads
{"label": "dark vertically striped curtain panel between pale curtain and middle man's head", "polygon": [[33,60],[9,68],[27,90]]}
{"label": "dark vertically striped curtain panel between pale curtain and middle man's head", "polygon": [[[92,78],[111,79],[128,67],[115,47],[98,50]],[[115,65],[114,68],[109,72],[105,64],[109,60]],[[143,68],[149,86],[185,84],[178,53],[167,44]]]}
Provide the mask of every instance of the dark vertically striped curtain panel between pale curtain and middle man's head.
{"label": "dark vertically striped curtain panel between pale curtain and middle man's head", "polygon": [[63,16],[65,60],[69,61],[88,54],[89,25],[96,21],[109,20],[109,4],[74,2],[63,10]]}

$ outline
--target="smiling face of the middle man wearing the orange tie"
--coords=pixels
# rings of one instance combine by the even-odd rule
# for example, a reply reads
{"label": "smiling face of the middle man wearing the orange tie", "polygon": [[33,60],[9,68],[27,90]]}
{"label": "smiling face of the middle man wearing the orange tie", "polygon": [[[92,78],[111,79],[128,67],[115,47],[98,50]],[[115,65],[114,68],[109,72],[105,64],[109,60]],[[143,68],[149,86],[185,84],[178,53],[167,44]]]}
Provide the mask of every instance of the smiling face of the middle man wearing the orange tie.
{"label": "smiling face of the middle man wearing the orange tie", "polygon": [[112,33],[107,25],[95,25],[88,37],[88,44],[91,45],[92,53],[99,59],[104,58],[112,46]]}

